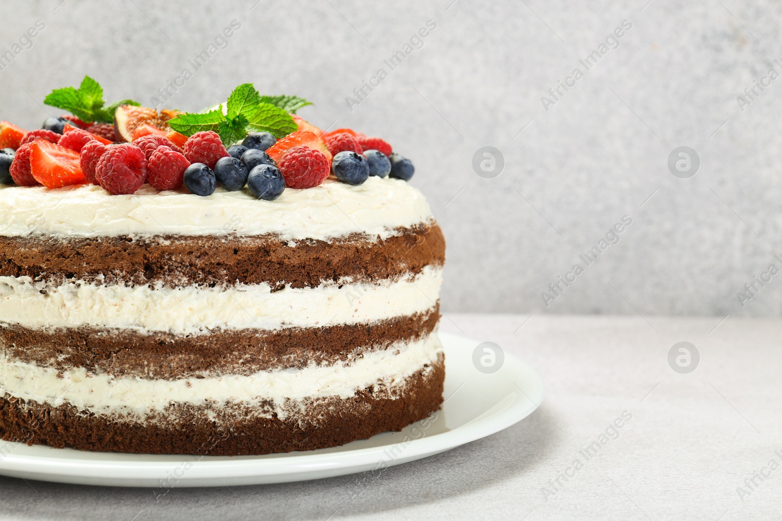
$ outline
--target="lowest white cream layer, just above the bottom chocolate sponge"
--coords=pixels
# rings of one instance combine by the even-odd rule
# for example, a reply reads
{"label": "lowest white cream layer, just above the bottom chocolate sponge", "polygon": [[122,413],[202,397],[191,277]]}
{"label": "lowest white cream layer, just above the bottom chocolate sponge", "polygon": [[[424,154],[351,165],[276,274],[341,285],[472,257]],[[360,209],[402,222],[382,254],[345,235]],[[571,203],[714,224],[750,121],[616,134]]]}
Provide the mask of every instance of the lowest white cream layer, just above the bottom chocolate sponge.
{"label": "lowest white cream layer, just above the bottom chocolate sponge", "polygon": [[[286,414],[291,404],[307,398],[350,398],[357,390],[384,384],[393,387],[425,364],[436,361],[442,347],[436,334],[412,343],[400,342],[388,349],[371,351],[351,361],[332,366],[260,372],[252,376],[142,380],[88,376],[84,368],[58,375],[56,369],[26,362],[0,359],[0,395],[58,406],[69,403],[80,411],[121,413],[143,418],[160,412],[170,403],[203,405],[226,401],[249,405],[273,400],[276,412]],[[301,407],[302,405],[293,405]],[[259,413],[263,412],[259,410]]]}

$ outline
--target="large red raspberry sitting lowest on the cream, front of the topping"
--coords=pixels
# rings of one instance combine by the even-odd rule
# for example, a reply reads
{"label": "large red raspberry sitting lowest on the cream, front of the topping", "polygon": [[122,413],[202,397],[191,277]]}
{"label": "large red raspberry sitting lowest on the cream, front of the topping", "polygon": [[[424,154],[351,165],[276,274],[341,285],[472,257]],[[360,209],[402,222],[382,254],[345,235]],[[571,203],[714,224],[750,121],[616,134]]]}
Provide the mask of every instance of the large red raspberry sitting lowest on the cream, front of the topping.
{"label": "large red raspberry sitting lowest on the cream, front of the topping", "polygon": [[95,177],[114,195],[135,193],[147,177],[144,152],[130,143],[106,147],[95,166]]}

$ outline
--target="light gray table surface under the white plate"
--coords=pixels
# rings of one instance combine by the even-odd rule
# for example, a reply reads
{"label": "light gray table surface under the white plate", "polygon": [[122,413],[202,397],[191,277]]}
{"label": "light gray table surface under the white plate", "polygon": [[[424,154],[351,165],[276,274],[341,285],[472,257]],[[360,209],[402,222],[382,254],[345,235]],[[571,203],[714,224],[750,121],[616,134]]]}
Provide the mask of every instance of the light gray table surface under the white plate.
{"label": "light gray table surface under the white plate", "polygon": [[[356,476],[174,489],[159,501],[151,489],[0,477],[0,518],[782,517],[782,321],[449,313],[442,329],[494,341],[536,368],[546,385],[540,408],[493,436],[389,469],[355,501]],[[700,353],[691,373],[669,366],[680,341]],[[631,418],[609,428],[623,412]],[[582,450],[607,429],[587,459]]]}

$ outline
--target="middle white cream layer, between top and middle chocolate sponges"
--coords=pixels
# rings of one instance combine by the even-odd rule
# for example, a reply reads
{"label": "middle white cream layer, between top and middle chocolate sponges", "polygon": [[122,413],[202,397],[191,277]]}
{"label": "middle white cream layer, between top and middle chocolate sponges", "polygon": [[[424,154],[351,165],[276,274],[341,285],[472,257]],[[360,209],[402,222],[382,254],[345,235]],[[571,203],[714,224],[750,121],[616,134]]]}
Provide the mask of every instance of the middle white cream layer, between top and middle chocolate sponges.
{"label": "middle white cream layer, between top and middle chocolate sponges", "polygon": [[23,327],[119,327],[209,334],[220,329],[277,330],[369,323],[432,309],[443,273],[377,284],[321,284],[271,291],[268,284],[175,288],[99,285],[70,280],[53,286],[30,277],[0,277],[0,324]]}

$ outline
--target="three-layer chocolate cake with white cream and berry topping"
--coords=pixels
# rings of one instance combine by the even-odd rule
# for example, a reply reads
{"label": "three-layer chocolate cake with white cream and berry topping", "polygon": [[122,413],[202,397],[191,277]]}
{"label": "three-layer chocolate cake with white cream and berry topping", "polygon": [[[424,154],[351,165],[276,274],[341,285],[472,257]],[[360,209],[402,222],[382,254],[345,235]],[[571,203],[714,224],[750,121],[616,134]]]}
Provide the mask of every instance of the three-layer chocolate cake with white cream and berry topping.
{"label": "three-layer chocolate cake with white cream and berry topping", "polygon": [[[14,183],[0,187],[2,439],[260,455],[401,430],[439,409],[445,243],[407,184],[409,162],[390,146],[378,154],[377,138],[291,120],[296,130],[244,133],[227,151],[205,131],[183,131],[179,147],[177,123],[162,119],[158,134],[123,141],[115,121],[108,141],[124,144],[67,148],[64,123],[59,143],[28,136],[29,164],[31,133],[20,137]],[[253,165],[248,150],[268,160]]]}

